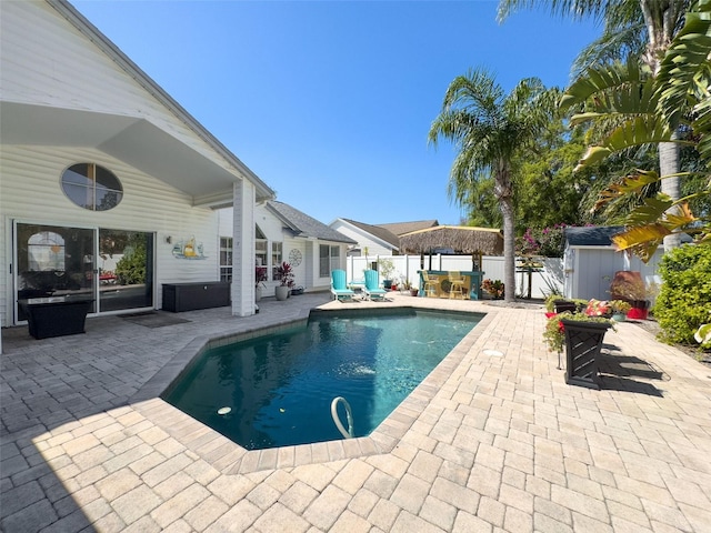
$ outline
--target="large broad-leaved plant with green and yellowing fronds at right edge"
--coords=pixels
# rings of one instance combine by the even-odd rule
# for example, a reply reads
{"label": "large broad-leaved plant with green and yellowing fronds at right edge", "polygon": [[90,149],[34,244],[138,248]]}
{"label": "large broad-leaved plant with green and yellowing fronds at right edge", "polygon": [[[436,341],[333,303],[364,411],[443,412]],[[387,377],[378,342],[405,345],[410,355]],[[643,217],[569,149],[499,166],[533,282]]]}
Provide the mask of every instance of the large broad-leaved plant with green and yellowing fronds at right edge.
{"label": "large broad-leaved plant with green and yellowing fronds at right edge", "polygon": [[[700,164],[695,172],[684,174],[700,177],[705,187],[681,199],[664,193],[647,199],[627,218],[628,230],[614,238],[619,249],[632,250],[647,261],[670,234],[689,233],[698,243],[711,244],[711,213],[694,214],[690,209],[690,201],[711,197],[711,0],[699,0],[687,13],[685,24],[670,43],[654,79],[634,83],[639,78],[634,72],[631,64],[627,70],[591,70],[567,91],[563,105],[571,100],[588,100],[585,94],[604,93],[604,98],[597,99],[599,102],[614,102],[612,107],[621,108],[628,117],[634,115],[634,120],[622,122],[599,145],[589,149],[581,161],[583,165],[647,143],[673,142],[698,151]],[[594,111],[603,118],[613,114],[603,104],[595,105]],[[687,139],[672,135],[680,127],[689,131]],[[599,203],[624,201],[648,184],[669,179],[672,177],[637,171],[603,191]],[[671,213],[670,208],[674,209]]]}

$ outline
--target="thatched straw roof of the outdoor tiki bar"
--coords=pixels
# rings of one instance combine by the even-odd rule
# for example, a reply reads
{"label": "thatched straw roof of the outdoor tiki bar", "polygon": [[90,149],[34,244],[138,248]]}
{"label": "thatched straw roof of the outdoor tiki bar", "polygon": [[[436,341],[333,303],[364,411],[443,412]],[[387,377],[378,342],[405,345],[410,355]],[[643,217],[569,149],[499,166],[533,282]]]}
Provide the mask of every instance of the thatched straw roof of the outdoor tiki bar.
{"label": "thatched straw roof of the outdoor tiki bar", "polygon": [[452,249],[459,253],[501,255],[503,237],[500,230],[469,225],[438,225],[400,235],[407,253],[428,253],[434,249]]}

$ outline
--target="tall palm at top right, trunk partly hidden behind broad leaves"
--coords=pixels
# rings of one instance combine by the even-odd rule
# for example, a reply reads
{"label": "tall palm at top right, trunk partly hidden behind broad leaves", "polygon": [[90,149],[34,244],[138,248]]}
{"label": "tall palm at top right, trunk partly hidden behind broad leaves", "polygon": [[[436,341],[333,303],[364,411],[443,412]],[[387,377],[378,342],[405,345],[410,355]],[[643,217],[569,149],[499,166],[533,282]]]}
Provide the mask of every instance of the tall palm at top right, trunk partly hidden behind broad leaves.
{"label": "tall palm at top right, trunk partly hidden behind broad leaves", "polygon": [[[504,20],[519,8],[535,6],[534,0],[500,0],[499,20]],[[639,57],[655,77],[664,52],[684,22],[691,0],[551,0],[547,2],[551,13],[572,16],[575,19],[592,17],[604,21],[600,39],[588,47],[577,61],[577,70],[591,64],[609,63],[628,56]],[[640,37],[645,36],[643,40]],[[679,149],[673,142],[659,144],[661,175],[673,177],[679,171]],[[678,178],[662,182],[662,192],[673,200],[680,195]],[[677,235],[664,239],[667,249],[678,247]]]}

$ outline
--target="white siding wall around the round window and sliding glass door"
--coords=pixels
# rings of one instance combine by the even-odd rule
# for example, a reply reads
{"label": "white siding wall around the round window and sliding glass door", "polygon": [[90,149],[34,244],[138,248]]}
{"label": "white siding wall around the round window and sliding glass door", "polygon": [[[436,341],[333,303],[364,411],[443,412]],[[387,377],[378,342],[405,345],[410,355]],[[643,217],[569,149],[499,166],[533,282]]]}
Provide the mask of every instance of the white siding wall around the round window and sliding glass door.
{"label": "white siding wall around the round window and sliding glass door", "polygon": [[[74,205],[60,187],[61,173],[78,162],[93,162],[111,170],[123,185],[123,199],[109,211],[92,212]],[[161,306],[161,283],[212,281],[218,279],[218,215],[208,208],[191,207],[187,194],[121,161],[91,149],[66,147],[0,147],[0,247],[2,272],[0,312],[9,324],[13,302],[9,274],[12,220],[88,228],[156,233],[154,304]],[[206,260],[180,260],[172,247],[194,235],[202,243]],[[171,237],[173,244],[166,238]]]}

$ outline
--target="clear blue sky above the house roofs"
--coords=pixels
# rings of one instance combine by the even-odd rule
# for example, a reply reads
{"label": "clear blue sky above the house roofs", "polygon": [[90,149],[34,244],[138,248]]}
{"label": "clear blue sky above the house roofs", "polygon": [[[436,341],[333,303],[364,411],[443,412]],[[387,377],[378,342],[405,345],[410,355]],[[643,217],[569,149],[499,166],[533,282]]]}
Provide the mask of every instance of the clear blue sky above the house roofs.
{"label": "clear blue sky above the house roofs", "polygon": [[330,223],[437,219],[454,152],[427,135],[449,83],[565,87],[591,22],[493,1],[72,2],[289,203]]}

